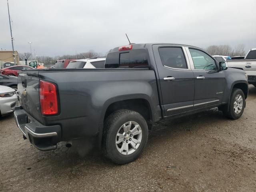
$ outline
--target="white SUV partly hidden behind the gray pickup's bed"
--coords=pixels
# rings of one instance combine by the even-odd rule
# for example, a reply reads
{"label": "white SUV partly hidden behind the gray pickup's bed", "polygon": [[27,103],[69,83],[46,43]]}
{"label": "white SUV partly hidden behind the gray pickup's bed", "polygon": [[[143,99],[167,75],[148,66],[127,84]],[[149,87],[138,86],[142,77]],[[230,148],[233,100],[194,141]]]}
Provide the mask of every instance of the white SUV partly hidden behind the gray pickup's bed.
{"label": "white SUV partly hidden behind the gray pickup's bed", "polygon": [[94,57],[70,61],[66,68],[105,68],[106,57]]}

